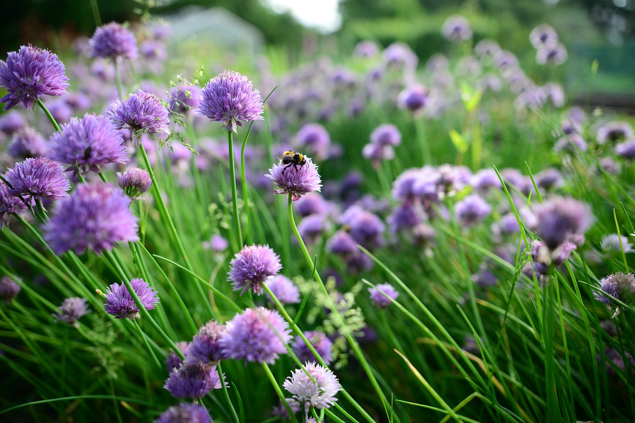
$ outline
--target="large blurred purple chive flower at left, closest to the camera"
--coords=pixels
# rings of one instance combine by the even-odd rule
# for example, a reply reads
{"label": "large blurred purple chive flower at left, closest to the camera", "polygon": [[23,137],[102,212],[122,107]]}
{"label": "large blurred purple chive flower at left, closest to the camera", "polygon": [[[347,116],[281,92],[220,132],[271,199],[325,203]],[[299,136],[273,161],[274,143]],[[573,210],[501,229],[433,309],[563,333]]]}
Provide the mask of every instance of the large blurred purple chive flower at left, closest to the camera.
{"label": "large blurred purple chive flower at left, closest to the camera", "polygon": [[130,211],[130,198],[109,183],[81,184],[62,202],[48,225],[44,238],[53,251],[62,254],[86,249],[99,253],[117,242],[135,242],[138,218]]}

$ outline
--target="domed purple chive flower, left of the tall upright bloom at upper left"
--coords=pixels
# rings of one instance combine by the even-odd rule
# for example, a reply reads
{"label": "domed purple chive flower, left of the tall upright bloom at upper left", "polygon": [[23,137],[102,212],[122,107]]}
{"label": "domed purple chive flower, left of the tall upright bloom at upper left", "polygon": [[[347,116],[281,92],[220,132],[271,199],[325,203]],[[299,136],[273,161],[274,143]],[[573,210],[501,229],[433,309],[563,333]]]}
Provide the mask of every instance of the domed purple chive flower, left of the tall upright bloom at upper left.
{"label": "domed purple chive flower, left of the tall upright bloom at upper left", "polygon": [[170,135],[168,109],[155,94],[141,89],[124,101],[112,103],[107,115],[115,129],[131,129],[137,133],[135,138],[141,133]]}

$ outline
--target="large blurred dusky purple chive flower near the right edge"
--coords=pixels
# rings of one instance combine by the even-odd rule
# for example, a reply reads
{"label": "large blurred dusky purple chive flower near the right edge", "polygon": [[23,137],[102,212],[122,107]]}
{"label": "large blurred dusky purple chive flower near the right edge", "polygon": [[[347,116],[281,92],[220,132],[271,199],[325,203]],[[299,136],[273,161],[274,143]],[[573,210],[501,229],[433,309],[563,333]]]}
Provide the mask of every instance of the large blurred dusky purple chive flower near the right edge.
{"label": "large blurred dusky purple chive flower near the right edge", "polygon": [[536,233],[551,251],[567,240],[578,244],[594,221],[591,207],[570,197],[551,198],[538,205],[534,214]]}

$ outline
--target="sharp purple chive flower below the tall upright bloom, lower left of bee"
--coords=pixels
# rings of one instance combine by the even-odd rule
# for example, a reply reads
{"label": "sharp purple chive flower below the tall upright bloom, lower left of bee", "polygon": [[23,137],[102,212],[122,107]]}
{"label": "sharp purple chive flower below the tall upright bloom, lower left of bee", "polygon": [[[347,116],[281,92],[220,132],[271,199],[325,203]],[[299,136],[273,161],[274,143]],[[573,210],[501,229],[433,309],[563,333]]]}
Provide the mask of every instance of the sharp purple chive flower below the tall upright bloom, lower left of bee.
{"label": "sharp purple chive flower below the tall upright bloom, lower left of bee", "polygon": [[241,295],[248,289],[262,295],[262,283],[282,269],[280,257],[269,245],[245,245],[229,263],[227,280]]}

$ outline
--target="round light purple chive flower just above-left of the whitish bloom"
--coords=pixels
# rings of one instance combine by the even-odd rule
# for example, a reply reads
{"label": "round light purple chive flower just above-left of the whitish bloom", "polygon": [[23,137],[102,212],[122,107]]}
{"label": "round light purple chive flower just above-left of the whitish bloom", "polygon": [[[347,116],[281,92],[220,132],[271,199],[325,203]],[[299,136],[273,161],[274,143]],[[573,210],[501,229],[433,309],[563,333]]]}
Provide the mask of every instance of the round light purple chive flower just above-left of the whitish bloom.
{"label": "round light purple chive flower just above-left of the whitish bloom", "polygon": [[264,307],[245,309],[225,324],[229,332],[218,342],[222,354],[235,360],[273,364],[293,338],[283,316]]}

